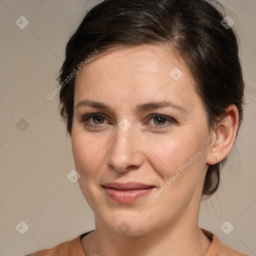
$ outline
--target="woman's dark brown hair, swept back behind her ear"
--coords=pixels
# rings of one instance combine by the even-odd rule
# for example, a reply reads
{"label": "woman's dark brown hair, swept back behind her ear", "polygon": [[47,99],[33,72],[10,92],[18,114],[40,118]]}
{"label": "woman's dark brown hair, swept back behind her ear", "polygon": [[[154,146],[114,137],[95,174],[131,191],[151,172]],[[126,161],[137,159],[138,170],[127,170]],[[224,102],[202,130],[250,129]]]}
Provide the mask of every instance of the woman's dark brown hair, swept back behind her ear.
{"label": "woman's dark brown hair, swept back behind her ear", "polygon": [[[85,15],[66,45],[59,74],[59,109],[71,135],[74,79],[66,79],[86,56],[113,46],[165,44],[185,63],[200,96],[209,128],[229,104],[243,117],[244,82],[238,57],[238,39],[223,15],[206,0],[104,0]],[[218,3],[219,4],[219,3]],[[219,4],[223,8],[221,4]],[[237,133],[236,133],[237,136]],[[223,164],[226,157],[220,162]],[[210,196],[219,184],[219,163],[209,165],[202,195]]]}

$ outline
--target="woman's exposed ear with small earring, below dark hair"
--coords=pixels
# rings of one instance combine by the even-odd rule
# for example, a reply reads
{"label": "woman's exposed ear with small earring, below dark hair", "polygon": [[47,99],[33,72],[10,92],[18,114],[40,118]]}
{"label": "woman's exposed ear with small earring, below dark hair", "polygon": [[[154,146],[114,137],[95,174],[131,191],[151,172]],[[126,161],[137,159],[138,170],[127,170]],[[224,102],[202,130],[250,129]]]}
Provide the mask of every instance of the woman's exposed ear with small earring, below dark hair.
{"label": "woman's exposed ear with small earring, below dark hair", "polygon": [[206,162],[210,165],[224,159],[232,149],[235,140],[239,122],[237,107],[231,104],[225,111],[224,118],[211,131],[212,141],[206,158]]}

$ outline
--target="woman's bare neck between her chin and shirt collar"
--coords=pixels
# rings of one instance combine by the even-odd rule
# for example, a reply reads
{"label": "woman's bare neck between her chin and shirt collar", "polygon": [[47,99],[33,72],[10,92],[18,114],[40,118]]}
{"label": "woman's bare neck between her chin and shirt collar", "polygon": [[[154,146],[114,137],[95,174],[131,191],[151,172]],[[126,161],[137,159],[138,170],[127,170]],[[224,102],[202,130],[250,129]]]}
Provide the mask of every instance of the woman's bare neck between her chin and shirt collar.
{"label": "woman's bare neck between her chin and shirt collar", "polygon": [[191,214],[189,210],[167,225],[140,236],[117,235],[95,217],[95,231],[86,236],[82,242],[86,256],[203,256],[211,243],[198,227],[198,212]]}

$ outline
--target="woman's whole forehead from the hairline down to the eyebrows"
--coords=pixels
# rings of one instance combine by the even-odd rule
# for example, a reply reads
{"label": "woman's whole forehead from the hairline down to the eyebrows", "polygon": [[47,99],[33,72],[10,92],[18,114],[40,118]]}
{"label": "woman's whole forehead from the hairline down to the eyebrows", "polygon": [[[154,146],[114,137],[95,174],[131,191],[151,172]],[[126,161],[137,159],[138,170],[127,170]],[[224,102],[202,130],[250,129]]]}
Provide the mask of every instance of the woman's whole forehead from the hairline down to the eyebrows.
{"label": "woman's whole forehead from the hairline down to the eyebrows", "polygon": [[78,72],[74,103],[83,100],[84,96],[92,100],[111,100],[110,103],[172,98],[176,102],[187,101],[189,107],[189,97],[195,93],[192,83],[184,65],[166,47],[125,46],[96,55]]}

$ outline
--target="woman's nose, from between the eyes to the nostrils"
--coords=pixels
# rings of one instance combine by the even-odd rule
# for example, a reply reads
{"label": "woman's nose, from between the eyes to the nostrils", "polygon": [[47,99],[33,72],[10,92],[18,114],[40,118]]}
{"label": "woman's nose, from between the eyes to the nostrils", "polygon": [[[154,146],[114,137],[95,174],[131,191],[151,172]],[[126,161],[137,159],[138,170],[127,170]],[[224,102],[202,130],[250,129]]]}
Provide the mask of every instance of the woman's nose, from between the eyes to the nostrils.
{"label": "woman's nose, from between the eyes to the nostrils", "polygon": [[108,165],[119,172],[139,168],[144,160],[141,140],[134,134],[132,126],[126,131],[117,126],[116,130],[109,143]]}

